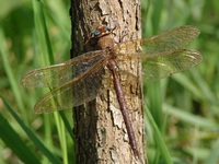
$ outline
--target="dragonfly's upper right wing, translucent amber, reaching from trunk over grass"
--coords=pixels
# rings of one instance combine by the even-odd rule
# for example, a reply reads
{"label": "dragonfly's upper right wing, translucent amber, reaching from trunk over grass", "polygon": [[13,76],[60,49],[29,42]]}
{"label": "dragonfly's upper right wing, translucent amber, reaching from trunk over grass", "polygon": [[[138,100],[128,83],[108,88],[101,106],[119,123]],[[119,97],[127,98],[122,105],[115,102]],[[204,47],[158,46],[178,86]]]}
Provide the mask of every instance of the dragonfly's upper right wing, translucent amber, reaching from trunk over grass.
{"label": "dragonfly's upper right wing, translucent amber, reaching from trunk over grass", "polygon": [[180,26],[149,38],[119,43],[115,46],[117,54],[141,52],[145,55],[172,51],[191,43],[199,34],[194,26]]}

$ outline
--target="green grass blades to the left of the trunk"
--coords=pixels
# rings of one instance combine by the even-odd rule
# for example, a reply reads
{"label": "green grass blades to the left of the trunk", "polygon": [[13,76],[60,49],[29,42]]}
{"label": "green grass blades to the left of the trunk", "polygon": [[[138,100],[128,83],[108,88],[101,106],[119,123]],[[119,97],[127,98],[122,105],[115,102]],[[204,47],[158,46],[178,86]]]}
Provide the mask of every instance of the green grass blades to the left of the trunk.
{"label": "green grass blades to the left of the trunk", "polygon": [[[14,104],[12,104],[12,107],[14,110],[18,110],[18,113],[21,115],[20,117],[19,116],[14,117],[14,115],[12,115],[13,118],[10,119],[12,120],[12,124],[14,122],[18,124],[18,126],[21,126],[21,129],[24,131],[23,140],[28,141],[24,144],[32,145],[32,147],[24,147],[26,148],[25,151],[34,152],[35,149],[38,150],[37,154],[34,155],[37,155],[37,160],[41,161],[41,163],[48,163],[49,161],[50,163],[67,164],[69,162],[68,153],[72,154],[71,150],[73,147],[72,132],[71,128],[69,128],[72,127],[69,126],[71,120],[70,118],[66,118],[65,115],[60,114],[61,115],[60,116],[58,113],[55,113],[54,117],[53,115],[42,115],[42,116],[34,115],[33,113],[34,103],[36,102],[37,97],[39,97],[39,95],[46,91],[37,90],[37,92],[33,92],[34,90],[32,90],[28,92],[25,89],[21,87],[19,81],[21,75],[25,73],[27,70],[55,63],[54,59],[55,55],[53,50],[55,50],[56,54],[59,55],[68,54],[67,51],[69,51],[70,49],[70,42],[69,42],[70,35],[67,36],[67,31],[70,30],[70,20],[66,22],[56,20],[57,17],[59,17],[60,20],[67,20],[68,12],[65,11],[68,11],[68,8],[69,8],[68,4],[64,3],[62,1],[56,1],[56,3],[55,2],[42,3],[41,1],[36,0],[33,0],[32,3],[30,3],[30,1],[23,1],[21,3],[18,3],[18,5],[15,5],[14,9],[9,9],[8,11],[9,14],[5,15],[5,17],[2,19],[1,22],[2,26],[0,28],[1,30],[0,39],[3,43],[1,45],[1,59],[3,63],[1,72],[3,72],[2,74],[5,75],[5,80],[9,82],[8,86],[2,87],[1,85],[1,87],[3,89],[1,90],[2,91],[1,96],[5,98],[5,101],[10,105],[12,104],[10,99],[12,97],[15,97],[15,102],[13,102]],[[55,15],[57,10],[62,11],[62,13],[59,12],[60,15]],[[23,13],[23,14],[18,15],[18,13]],[[9,20],[11,22],[9,22]],[[23,22],[21,22],[21,24],[23,25],[20,25],[18,20],[23,20]],[[18,24],[18,26],[13,25],[14,23]],[[9,28],[11,28],[11,32],[9,31]],[[9,37],[10,33],[14,33],[14,31],[16,32],[18,37],[20,37],[20,40]],[[7,45],[8,37],[11,38],[11,40],[13,42],[11,48],[8,48]],[[26,49],[25,48],[22,49],[20,47],[18,48],[16,45],[26,47]],[[9,58],[10,56],[11,58]],[[59,56],[59,58],[64,57]],[[7,92],[9,91],[12,92],[11,97],[8,96],[7,94]],[[34,99],[32,99],[32,97]],[[7,104],[4,105],[5,107],[3,109],[11,108],[10,105],[8,106]],[[2,119],[7,117],[5,115],[3,115],[4,113],[9,115],[7,110],[3,110]],[[9,116],[11,117],[11,115]],[[14,118],[16,119],[14,120]],[[64,124],[61,118],[67,121],[65,121]],[[23,126],[24,122],[26,124],[26,127]],[[1,126],[2,128],[4,127],[3,124]],[[65,128],[65,126],[67,128]],[[70,134],[70,140],[68,139],[69,136],[66,129],[68,129],[68,132]],[[16,137],[14,136],[13,139],[14,141],[15,138]],[[37,138],[39,138],[39,140]],[[7,142],[5,137],[4,140],[2,141],[5,148],[8,147],[11,150],[21,149],[21,147],[16,144],[8,144],[9,141]],[[70,147],[70,151],[67,150],[68,147]],[[1,149],[3,149],[3,147]],[[22,156],[28,156],[30,159],[32,159],[32,161],[35,161],[34,156],[31,157],[30,154],[21,154],[18,153],[18,151],[13,152],[22,161],[23,161]],[[11,155],[9,156],[9,159],[4,159],[4,156],[0,159],[2,159],[0,163],[4,162],[8,163],[10,162],[10,160],[12,160]],[[28,162],[24,161],[24,162],[32,163],[30,161]]]}

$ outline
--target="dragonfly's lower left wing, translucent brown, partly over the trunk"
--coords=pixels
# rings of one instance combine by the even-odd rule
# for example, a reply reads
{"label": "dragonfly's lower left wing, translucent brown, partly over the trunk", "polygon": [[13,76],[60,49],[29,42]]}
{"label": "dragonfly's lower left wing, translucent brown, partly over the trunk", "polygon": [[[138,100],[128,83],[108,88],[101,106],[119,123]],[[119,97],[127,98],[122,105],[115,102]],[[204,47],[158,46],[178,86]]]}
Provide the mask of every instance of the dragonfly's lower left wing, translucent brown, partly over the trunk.
{"label": "dragonfly's lower left wing, translucent brown, partly over the trunk", "polygon": [[105,62],[105,60],[99,61],[83,74],[45,94],[36,103],[35,113],[53,113],[94,99],[102,85]]}

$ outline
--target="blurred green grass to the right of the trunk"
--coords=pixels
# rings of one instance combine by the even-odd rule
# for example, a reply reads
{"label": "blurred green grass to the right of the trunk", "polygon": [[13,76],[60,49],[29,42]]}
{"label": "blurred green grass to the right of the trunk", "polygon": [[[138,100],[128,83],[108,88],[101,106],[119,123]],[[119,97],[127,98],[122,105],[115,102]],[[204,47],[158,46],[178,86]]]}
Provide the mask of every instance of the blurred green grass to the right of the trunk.
{"label": "blurred green grass to the right of the trunk", "polygon": [[146,24],[143,35],[185,24],[197,26],[201,33],[189,48],[200,51],[204,60],[188,71],[146,85],[146,105],[169,149],[165,152],[161,148],[157,128],[146,128],[149,163],[170,163],[165,157],[169,154],[173,163],[218,163],[215,147],[219,138],[218,1],[151,1],[150,4],[148,20],[142,24]]}

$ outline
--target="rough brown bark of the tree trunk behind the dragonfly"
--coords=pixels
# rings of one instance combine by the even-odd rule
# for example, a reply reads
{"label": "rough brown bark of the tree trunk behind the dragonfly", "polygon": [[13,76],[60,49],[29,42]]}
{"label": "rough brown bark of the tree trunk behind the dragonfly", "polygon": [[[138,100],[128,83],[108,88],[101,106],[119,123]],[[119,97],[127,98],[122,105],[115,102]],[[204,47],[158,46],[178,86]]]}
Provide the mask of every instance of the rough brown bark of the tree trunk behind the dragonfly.
{"label": "rough brown bark of the tree trunk behind the dragonfly", "polygon": [[[84,43],[99,25],[116,26],[114,39],[117,43],[141,37],[140,0],[71,0],[70,16],[72,23],[71,57],[95,50],[94,46],[84,46]],[[141,77],[139,62],[126,61],[118,67],[129,70],[136,77]],[[103,80],[103,85],[107,83],[107,80]],[[140,163],[146,163],[140,78],[135,81],[127,80],[124,90],[126,90],[130,119],[141,155]],[[116,104],[115,91],[104,89],[96,99],[74,108],[74,142],[78,164],[139,163],[132,155],[124,120]]]}

